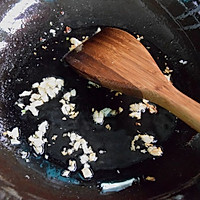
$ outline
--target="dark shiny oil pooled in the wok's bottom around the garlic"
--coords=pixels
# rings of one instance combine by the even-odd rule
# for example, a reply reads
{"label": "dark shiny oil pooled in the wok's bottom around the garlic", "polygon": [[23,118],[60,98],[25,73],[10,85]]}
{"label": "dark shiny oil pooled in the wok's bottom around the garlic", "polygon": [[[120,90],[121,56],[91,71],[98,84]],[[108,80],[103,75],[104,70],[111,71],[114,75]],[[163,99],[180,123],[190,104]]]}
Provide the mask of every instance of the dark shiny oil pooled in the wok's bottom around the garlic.
{"label": "dark shiny oil pooled in the wok's bottom around the garlic", "polygon": [[[135,165],[154,159],[149,154],[130,150],[134,136],[138,133],[153,135],[158,141],[157,145],[165,149],[165,142],[173,133],[175,127],[175,117],[158,107],[157,114],[152,115],[146,112],[142,115],[141,120],[132,119],[129,117],[129,105],[141,100],[126,95],[115,96],[116,92],[111,92],[102,87],[88,88],[88,81],[77,75],[66,63],[61,61],[70,46],[66,37],[82,39],[83,35],[90,36],[95,30],[96,28],[73,30],[70,34],[60,34],[43,42],[33,50],[33,55],[30,56],[24,66],[13,69],[10,78],[16,81],[11,81],[7,86],[6,93],[13,94],[12,101],[7,102],[7,108],[9,108],[7,118],[10,126],[20,127],[24,144],[28,143],[28,137],[37,130],[37,125],[47,120],[50,128],[46,137],[51,145],[45,144],[44,155],[48,155],[45,162],[52,163],[64,170],[67,168],[69,159],[76,160],[77,171],[72,173],[72,178],[84,181],[84,178],[80,175],[82,165],[79,156],[81,152],[77,151],[70,156],[61,154],[63,147],[69,147],[69,139],[63,138],[63,133],[74,131],[88,141],[94,152],[97,153],[98,160],[90,163],[94,172],[92,182],[126,180],[142,175],[140,170],[135,170]],[[142,42],[145,46],[150,47],[151,54],[158,65],[162,67],[162,71],[166,64],[170,66],[161,51],[145,39]],[[170,68],[173,69],[172,66]],[[17,107],[13,108],[18,95],[24,90],[29,90],[33,83],[41,82],[42,78],[52,76],[64,79],[64,90],[55,99],[39,108],[38,117],[33,117],[29,112],[21,116],[20,110]],[[59,100],[65,92],[71,89],[76,89],[77,96],[73,98],[73,103],[76,104],[80,113],[75,119],[62,120],[63,113],[60,110]],[[121,114],[106,118],[103,125],[94,123],[92,118],[93,108],[99,111],[103,108],[118,110],[119,107],[123,108]],[[136,122],[139,122],[141,126],[136,126]],[[111,126],[111,130],[105,128],[106,124]],[[57,135],[55,141],[52,140],[54,135]],[[32,148],[29,149],[33,155],[34,151]],[[101,151],[105,153],[100,154]],[[43,157],[41,159],[45,160]]]}

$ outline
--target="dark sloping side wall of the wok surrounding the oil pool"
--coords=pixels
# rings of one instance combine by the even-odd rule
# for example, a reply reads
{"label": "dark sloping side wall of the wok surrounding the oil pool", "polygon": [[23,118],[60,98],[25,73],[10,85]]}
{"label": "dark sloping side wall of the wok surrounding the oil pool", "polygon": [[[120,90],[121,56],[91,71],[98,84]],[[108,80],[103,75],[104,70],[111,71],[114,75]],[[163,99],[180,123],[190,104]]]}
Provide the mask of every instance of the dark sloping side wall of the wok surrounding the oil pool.
{"label": "dark sloping side wall of the wok surrounding the oil pool", "polygon": [[[180,11],[179,16],[175,16],[177,21],[174,21],[174,18],[171,18],[172,16],[169,16],[166,10],[161,9],[159,3],[154,1],[151,3],[148,1],[105,1],[103,3],[96,1],[33,1],[33,3],[15,19],[22,20],[22,27],[20,26],[16,30],[11,25],[10,30],[5,28],[0,33],[1,41],[7,43],[6,48],[2,48],[1,53],[0,127],[2,129],[6,124],[9,124],[6,121],[7,113],[4,111],[9,105],[9,98],[12,99],[13,97],[12,94],[5,91],[7,91],[9,79],[11,78],[13,81],[18,77],[17,73],[13,76],[12,72],[18,70],[20,72],[20,66],[24,66],[33,53],[33,49],[40,44],[40,37],[46,39],[51,37],[50,34],[44,34],[44,32],[49,31],[50,22],[53,22],[55,27],[60,28],[58,32],[63,30],[61,25],[63,23],[64,26],[68,25],[73,29],[91,26],[115,26],[144,35],[147,41],[150,41],[164,54],[168,55],[174,70],[172,77],[174,85],[190,97],[197,101],[200,100],[200,87],[198,87],[200,82],[199,43],[192,37],[193,42],[195,41],[192,44],[177,24],[177,21],[183,23],[186,18],[180,17],[183,11]],[[184,4],[184,6],[188,4]],[[2,3],[0,9],[2,19],[6,17],[4,13],[10,9],[9,5],[12,5],[10,1]],[[173,7],[169,1],[166,6]],[[186,9],[178,3],[176,6],[180,6],[182,10]],[[197,17],[196,20],[198,20]],[[184,29],[186,32],[189,31],[190,36],[197,35],[197,31],[199,31],[197,27],[193,28],[195,31],[192,32],[186,25]],[[179,63],[181,59],[187,60],[188,64],[183,66]],[[20,196],[24,196],[25,199],[37,199],[37,196],[45,199],[144,199],[157,195],[170,197],[198,180],[200,163],[198,136],[192,142],[190,141],[196,132],[178,121],[173,134],[174,137],[168,141],[168,145],[172,145],[173,148],[168,149],[165,153],[166,156],[155,164],[152,164],[151,161],[147,162],[141,168],[145,172],[151,166],[149,168],[151,168],[152,174],[156,174],[158,179],[156,183],[142,183],[140,186],[137,185],[109,196],[100,196],[95,188],[68,186],[56,181],[52,184],[52,181],[43,179],[42,174],[33,171],[31,164],[27,168],[19,160],[16,161],[15,157],[4,147],[1,147],[0,158],[1,163],[4,163],[0,170],[2,199],[3,195],[10,194],[12,189],[18,193],[18,196],[14,194],[16,199],[20,199]],[[190,145],[188,145],[188,142]],[[27,174],[31,174],[30,179],[26,178]]]}

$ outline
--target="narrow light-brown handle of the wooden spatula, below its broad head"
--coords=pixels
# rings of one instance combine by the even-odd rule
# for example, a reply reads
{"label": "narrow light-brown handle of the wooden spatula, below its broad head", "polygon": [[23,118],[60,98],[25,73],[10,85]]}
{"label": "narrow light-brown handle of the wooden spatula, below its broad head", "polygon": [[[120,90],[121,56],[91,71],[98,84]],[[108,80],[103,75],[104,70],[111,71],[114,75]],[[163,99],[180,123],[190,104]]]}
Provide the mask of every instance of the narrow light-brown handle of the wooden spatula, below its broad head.
{"label": "narrow light-brown handle of the wooden spatula, below its broad head", "polygon": [[[153,97],[153,96],[152,96]],[[155,98],[155,99],[154,99]],[[200,132],[200,104],[175,87],[158,90],[152,101],[172,112],[190,127]]]}

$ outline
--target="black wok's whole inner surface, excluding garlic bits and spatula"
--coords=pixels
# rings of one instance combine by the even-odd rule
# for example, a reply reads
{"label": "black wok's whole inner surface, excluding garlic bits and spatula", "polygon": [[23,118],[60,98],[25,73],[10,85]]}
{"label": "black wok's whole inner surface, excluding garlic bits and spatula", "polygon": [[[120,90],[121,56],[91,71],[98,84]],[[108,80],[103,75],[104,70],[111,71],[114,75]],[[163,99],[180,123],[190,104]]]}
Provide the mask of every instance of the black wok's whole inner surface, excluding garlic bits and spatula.
{"label": "black wok's whole inner surface, excluding garlic bits and spatula", "polygon": [[[15,3],[14,1],[3,3],[2,20],[6,18],[4,13],[11,9],[9,5],[14,6]],[[111,131],[106,130],[104,126],[95,125],[90,114],[92,107],[101,109],[101,106],[103,108],[107,106],[117,109],[123,105],[128,108],[130,103],[138,100],[126,96],[116,98],[113,93],[104,88],[88,89],[87,81],[60,61],[69,47],[69,43],[65,40],[66,35],[62,34],[66,25],[73,29],[68,36],[78,38],[82,35],[90,35],[98,26],[119,27],[132,34],[143,35],[144,45],[151,47],[150,52],[161,69],[164,69],[164,63],[167,62],[168,66],[174,70],[173,84],[199,101],[198,49],[194,50],[189,38],[181,31],[176,21],[173,21],[174,18],[170,18],[165,13],[166,10],[161,9],[159,3],[148,1],[134,3],[132,1],[115,3],[112,1],[104,3],[32,1],[32,4],[29,1],[29,5],[26,4],[28,7],[26,11],[17,15],[15,21],[18,23],[7,24],[10,29],[6,28],[5,23],[0,24],[2,131],[18,125],[23,130],[23,141],[26,141],[35,130],[38,121],[47,119],[55,125],[48,136],[49,140],[55,133],[61,135],[63,131],[76,130],[91,143],[95,151],[103,148],[107,150],[107,153],[102,157],[98,156],[99,163],[93,163],[95,175],[91,181],[83,180],[77,173],[66,182],[55,175],[66,165],[66,159],[60,154],[60,148],[66,141],[61,137],[58,137],[53,148],[45,147],[51,164],[42,162],[43,158],[24,163],[18,158],[17,152],[20,149],[14,152],[8,151],[4,147],[5,142],[2,141],[0,158],[4,165],[1,165],[0,171],[1,196],[11,195],[7,191],[8,188],[13,188],[18,194],[18,196],[15,195],[16,199],[20,196],[32,199],[38,197],[44,199],[124,199],[125,197],[126,199],[144,199],[156,196],[170,197],[193,185],[199,173],[198,134],[196,135],[194,130],[161,108],[158,108],[156,115],[145,113],[141,120],[141,127],[136,127],[135,121],[127,117],[128,111],[119,117],[107,119],[106,122],[112,125]],[[15,6],[17,5],[19,4]],[[169,3],[166,6],[170,8],[172,5]],[[181,9],[184,9],[183,4],[177,3],[176,6],[180,6],[181,13]],[[184,15],[181,14],[177,18],[180,22],[183,19]],[[23,23],[20,24],[20,22]],[[50,22],[53,27],[50,26]],[[20,27],[17,24],[20,24]],[[51,28],[59,28],[58,37],[52,38],[49,33]],[[189,28],[186,26],[186,29]],[[193,33],[194,35],[190,31],[190,36],[198,35],[196,29]],[[47,39],[42,43],[48,46],[47,51],[41,48],[40,37]],[[195,38],[192,39],[195,40]],[[198,41],[196,44],[198,48]],[[37,56],[33,54],[35,51],[37,51]],[[187,60],[188,63],[186,65],[179,63],[182,59]],[[66,90],[76,88],[78,95],[74,101],[79,106],[78,109],[82,111],[79,118],[73,122],[59,120],[62,114],[57,111],[59,105],[55,101],[42,108],[39,120],[35,120],[31,115],[21,117],[19,110],[12,106],[21,91],[46,76],[63,77]],[[153,159],[146,154],[130,151],[130,141],[137,134],[137,130],[155,135],[158,145],[163,147],[164,155],[161,158]],[[191,140],[192,137],[193,140]],[[23,143],[23,148],[26,148],[26,142]],[[154,176],[156,181],[147,182],[146,176]],[[133,177],[139,177],[140,183],[119,193],[102,196],[100,189],[96,187],[100,182],[122,181]],[[35,193],[35,191],[39,192]]]}

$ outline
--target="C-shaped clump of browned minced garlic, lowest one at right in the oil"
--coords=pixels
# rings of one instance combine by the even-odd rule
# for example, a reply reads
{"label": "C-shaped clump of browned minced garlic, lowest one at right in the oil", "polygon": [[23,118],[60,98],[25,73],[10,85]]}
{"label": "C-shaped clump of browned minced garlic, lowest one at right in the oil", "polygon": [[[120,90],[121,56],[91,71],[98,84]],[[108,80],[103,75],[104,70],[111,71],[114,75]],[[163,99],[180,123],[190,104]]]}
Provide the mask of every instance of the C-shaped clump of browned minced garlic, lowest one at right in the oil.
{"label": "C-shaped clump of browned minced garlic, lowest one at right in the oil", "polygon": [[[146,149],[141,149],[140,146],[135,146],[135,142],[138,140],[142,140],[144,142],[144,146]],[[154,143],[156,143],[157,141],[154,140],[154,136],[151,135],[147,135],[147,134],[138,134],[134,137],[134,139],[131,142],[131,151],[136,151],[136,150],[140,150],[141,153],[149,153],[152,156],[162,156],[163,152],[162,149],[160,147],[156,147],[154,145]]]}

